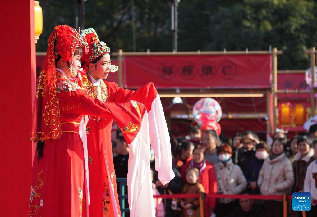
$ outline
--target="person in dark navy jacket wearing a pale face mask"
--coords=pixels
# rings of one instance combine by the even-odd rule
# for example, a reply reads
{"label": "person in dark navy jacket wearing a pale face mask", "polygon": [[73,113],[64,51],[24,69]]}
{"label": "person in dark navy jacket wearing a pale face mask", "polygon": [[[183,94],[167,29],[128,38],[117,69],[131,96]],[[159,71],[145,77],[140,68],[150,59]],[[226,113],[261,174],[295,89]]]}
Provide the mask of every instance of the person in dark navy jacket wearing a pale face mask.
{"label": "person in dark navy jacket wearing a pale face mask", "polygon": [[245,178],[248,181],[248,193],[259,195],[260,191],[257,187],[257,180],[259,172],[262,168],[264,160],[268,157],[270,152],[270,146],[265,142],[256,144],[256,159],[250,161],[247,170],[244,173]]}

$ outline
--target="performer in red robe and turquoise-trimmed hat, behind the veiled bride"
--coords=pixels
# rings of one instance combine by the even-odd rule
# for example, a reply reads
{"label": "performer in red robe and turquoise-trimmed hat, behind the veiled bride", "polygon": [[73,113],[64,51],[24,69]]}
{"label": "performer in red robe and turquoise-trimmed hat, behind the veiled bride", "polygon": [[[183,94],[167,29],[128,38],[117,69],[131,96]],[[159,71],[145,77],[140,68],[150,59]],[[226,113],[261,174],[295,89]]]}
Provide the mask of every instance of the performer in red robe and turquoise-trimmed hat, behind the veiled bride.
{"label": "performer in red robe and turquoise-trimmed hat, behind the veiled bride", "polygon": [[[81,39],[85,46],[82,57],[83,74],[87,74],[87,77],[82,76],[83,88],[90,97],[99,99],[104,103],[112,101],[123,103],[128,100],[136,100],[146,106],[146,110],[149,112],[149,137],[151,137],[152,148],[157,157],[156,169],[159,171],[159,179],[162,183],[169,182],[174,177],[171,170],[171,147],[162,105],[156,88],[152,83],[149,83],[134,92],[124,90],[114,82],[104,81],[103,79],[106,79],[110,72],[118,71],[118,67],[111,64],[110,48],[103,41],[99,41],[96,32],[92,28],[83,30]],[[112,118],[89,116],[87,123],[90,216],[117,217],[120,215],[110,136],[112,121]],[[134,154],[135,148],[130,149],[130,156]],[[146,156],[146,153],[144,155]],[[145,159],[140,158],[139,160],[144,161]],[[136,162],[136,159],[134,159],[134,162]],[[135,163],[129,160],[127,181],[130,216],[152,216],[152,207],[146,207],[145,204],[140,203],[142,198],[151,199],[148,197],[149,189],[147,195],[132,194],[135,191],[140,191],[143,184],[140,182],[141,180],[132,175],[133,171],[136,171],[135,168]],[[147,172],[147,169],[143,171],[146,174]],[[139,206],[143,206],[142,213],[140,213]],[[146,209],[148,209],[148,212]]]}

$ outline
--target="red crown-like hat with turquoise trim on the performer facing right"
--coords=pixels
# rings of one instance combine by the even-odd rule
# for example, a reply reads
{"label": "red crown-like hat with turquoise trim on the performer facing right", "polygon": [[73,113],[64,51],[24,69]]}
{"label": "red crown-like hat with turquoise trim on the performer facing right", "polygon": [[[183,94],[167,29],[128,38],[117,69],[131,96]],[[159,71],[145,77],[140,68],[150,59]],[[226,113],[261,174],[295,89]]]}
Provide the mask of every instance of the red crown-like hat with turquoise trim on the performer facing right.
{"label": "red crown-like hat with turquoise trim on the performer facing right", "polygon": [[[84,29],[81,32],[81,42],[84,46],[84,52],[81,59],[86,66],[94,59],[110,53],[110,48],[105,42],[99,41],[98,35],[93,28]],[[111,65],[110,72],[116,72],[118,69],[119,67]]]}

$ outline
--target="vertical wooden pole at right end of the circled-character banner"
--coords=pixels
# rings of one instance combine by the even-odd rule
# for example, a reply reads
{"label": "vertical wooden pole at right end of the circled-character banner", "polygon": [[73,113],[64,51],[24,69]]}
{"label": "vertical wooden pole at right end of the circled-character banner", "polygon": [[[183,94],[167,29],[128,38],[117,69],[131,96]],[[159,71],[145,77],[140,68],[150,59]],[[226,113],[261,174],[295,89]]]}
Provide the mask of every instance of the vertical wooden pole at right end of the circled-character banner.
{"label": "vertical wooden pole at right end of the circled-character banner", "polygon": [[276,109],[277,109],[277,48],[272,52],[272,73],[273,73],[273,133],[276,132]]}

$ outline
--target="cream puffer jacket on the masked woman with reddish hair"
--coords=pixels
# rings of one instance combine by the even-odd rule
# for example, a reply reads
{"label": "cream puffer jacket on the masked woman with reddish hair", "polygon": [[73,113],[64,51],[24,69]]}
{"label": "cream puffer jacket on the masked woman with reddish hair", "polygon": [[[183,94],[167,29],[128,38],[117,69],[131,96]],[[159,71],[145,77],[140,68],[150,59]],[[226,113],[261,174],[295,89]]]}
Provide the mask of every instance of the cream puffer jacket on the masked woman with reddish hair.
{"label": "cream puffer jacket on the masked woman with reddish hair", "polygon": [[[247,180],[245,179],[240,167],[230,159],[227,163],[221,162],[214,165],[218,194],[238,195],[247,188]],[[217,198],[217,203],[229,203],[236,199]]]}

